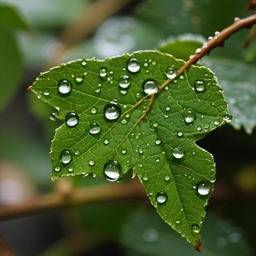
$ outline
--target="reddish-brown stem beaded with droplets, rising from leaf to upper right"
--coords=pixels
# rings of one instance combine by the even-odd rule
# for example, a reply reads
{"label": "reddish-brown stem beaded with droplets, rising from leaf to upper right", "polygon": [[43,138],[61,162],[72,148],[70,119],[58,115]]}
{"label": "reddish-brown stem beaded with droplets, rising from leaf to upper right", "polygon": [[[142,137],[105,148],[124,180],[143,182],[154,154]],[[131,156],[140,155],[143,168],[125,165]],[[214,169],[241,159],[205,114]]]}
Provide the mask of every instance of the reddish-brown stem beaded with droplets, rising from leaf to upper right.
{"label": "reddish-brown stem beaded with droplets, rising from leaf to upper right", "polygon": [[171,83],[174,79],[176,79],[180,74],[182,74],[185,70],[187,70],[191,65],[195,64],[200,60],[200,58],[204,57],[205,55],[209,54],[212,49],[216,47],[223,47],[225,41],[231,36],[232,34],[236,33],[240,29],[243,28],[250,28],[252,25],[256,24],[256,14],[249,16],[244,19],[239,19],[234,22],[229,27],[223,29],[221,32],[216,31],[215,35],[209,40],[208,42],[204,43],[201,48],[198,48],[193,56],[187,61],[181,69],[177,72],[176,76],[173,79],[166,80],[158,89],[158,92],[166,87],[169,83]]}

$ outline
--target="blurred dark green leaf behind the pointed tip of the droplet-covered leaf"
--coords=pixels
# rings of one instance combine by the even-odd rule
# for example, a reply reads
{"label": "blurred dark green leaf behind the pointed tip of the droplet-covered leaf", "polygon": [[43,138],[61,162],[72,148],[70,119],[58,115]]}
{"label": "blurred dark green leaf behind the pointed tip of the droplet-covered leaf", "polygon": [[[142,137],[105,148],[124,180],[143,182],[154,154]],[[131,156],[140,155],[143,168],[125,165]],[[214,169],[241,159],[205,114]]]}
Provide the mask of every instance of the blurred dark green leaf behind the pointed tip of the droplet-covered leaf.
{"label": "blurred dark green leaf behind the pointed tip of the droplet-covered leaf", "polygon": [[[173,230],[152,212],[133,214],[124,225],[121,243],[128,256],[198,256]],[[202,228],[204,245],[200,256],[249,256],[250,246],[238,227],[225,219],[207,216]]]}

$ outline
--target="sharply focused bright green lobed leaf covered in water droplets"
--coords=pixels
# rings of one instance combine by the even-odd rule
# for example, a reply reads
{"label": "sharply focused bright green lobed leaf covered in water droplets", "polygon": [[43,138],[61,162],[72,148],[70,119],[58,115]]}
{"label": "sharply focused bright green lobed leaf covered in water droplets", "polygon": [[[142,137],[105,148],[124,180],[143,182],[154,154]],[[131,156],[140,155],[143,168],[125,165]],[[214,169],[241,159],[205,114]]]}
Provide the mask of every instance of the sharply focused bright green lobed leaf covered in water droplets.
{"label": "sharply focused bright green lobed leaf covered in water droplets", "polygon": [[155,95],[141,119],[150,102],[145,88],[155,92],[166,69],[170,76],[183,65],[157,51],[83,59],[41,74],[30,89],[66,119],[52,141],[52,180],[90,174],[121,181],[133,169],[160,216],[200,250],[215,164],[195,141],[230,121],[222,88],[209,69],[192,66]]}

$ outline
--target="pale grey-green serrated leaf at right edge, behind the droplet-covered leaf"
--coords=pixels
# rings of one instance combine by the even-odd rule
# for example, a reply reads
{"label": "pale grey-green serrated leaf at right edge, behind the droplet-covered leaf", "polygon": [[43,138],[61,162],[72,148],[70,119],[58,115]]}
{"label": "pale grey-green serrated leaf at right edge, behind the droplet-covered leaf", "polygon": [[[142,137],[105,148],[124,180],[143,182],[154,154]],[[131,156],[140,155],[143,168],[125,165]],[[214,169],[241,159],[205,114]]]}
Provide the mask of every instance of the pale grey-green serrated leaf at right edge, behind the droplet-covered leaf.
{"label": "pale grey-green serrated leaf at right edge, behind the droplet-covered leaf", "polygon": [[256,66],[216,57],[203,58],[202,63],[215,72],[225,90],[233,115],[230,124],[238,130],[243,126],[252,134],[256,126]]}

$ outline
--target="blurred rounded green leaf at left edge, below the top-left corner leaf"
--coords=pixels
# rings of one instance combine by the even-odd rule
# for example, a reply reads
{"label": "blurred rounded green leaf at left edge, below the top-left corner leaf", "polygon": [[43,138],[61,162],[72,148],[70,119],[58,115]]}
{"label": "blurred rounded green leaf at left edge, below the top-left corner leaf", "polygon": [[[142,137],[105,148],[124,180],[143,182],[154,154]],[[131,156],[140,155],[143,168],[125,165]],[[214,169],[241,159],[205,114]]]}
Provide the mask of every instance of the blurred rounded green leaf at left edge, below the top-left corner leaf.
{"label": "blurred rounded green leaf at left edge, below the top-left corner leaf", "polygon": [[0,111],[13,95],[22,72],[22,57],[13,34],[0,25]]}

